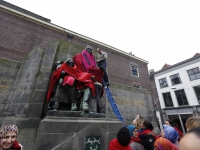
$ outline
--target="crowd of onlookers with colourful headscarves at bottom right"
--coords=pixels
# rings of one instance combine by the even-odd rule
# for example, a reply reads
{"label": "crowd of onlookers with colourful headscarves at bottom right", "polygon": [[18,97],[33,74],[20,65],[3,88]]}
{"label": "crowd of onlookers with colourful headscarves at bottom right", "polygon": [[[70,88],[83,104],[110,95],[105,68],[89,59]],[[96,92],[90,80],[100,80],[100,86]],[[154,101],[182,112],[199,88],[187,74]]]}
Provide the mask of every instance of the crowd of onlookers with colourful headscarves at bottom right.
{"label": "crowd of onlookers with colourful headscarves at bottom right", "polygon": [[153,132],[153,125],[137,115],[131,125],[122,127],[117,138],[109,143],[109,150],[199,150],[200,117],[188,118],[184,135],[171,120],[166,120],[160,135]]}

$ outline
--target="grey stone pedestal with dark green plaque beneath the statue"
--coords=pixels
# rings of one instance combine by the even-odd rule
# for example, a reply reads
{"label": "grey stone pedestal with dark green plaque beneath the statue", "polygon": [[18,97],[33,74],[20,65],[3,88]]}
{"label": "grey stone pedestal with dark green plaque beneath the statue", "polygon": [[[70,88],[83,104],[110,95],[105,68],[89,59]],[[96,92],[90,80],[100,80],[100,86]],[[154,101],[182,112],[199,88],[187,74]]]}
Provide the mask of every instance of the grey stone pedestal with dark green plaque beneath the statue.
{"label": "grey stone pedestal with dark green plaque beneath the statue", "polygon": [[40,122],[35,150],[86,150],[89,137],[100,138],[100,149],[106,150],[121,127],[123,123],[115,119],[50,115]]}

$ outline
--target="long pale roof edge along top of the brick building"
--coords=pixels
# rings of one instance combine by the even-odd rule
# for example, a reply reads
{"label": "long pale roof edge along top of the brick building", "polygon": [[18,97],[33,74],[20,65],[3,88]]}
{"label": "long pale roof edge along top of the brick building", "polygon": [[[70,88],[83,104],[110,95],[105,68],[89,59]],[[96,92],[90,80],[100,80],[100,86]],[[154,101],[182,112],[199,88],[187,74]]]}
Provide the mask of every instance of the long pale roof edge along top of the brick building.
{"label": "long pale roof edge along top of the brick building", "polygon": [[117,49],[117,48],[112,47],[110,45],[107,45],[105,43],[99,42],[99,41],[94,40],[92,38],[86,37],[84,35],[78,34],[78,33],[73,32],[71,30],[65,29],[65,28],[60,27],[58,25],[55,25],[55,24],[51,23],[51,20],[49,20],[47,18],[44,18],[44,17],[39,16],[37,14],[34,14],[34,13],[30,12],[30,11],[22,9],[22,8],[20,8],[18,6],[15,6],[15,5],[10,4],[8,2],[5,2],[3,0],[0,0],[0,10],[6,11],[6,12],[8,12],[10,14],[14,14],[16,16],[22,17],[22,18],[24,18],[26,20],[29,20],[29,21],[32,21],[34,23],[43,25],[44,27],[51,28],[53,30],[62,32],[64,34],[72,34],[74,37],[77,37],[77,38],[82,39],[84,41],[88,41],[90,43],[96,44],[99,47],[102,47],[102,48],[104,47],[104,48],[109,49],[111,51],[118,52],[121,55],[130,57],[130,58],[134,58],[134,59],[139,60],[139,61],[141,61],[141,62],[143,62],[145,64],[149,63],[148,61],[146,61],[146,60],[144,60],[142,58],[139,58],[139,57],[137,57],[135,55],[131,55],[131,54],[127,53],[127,52],[124,52],[124,51],[122,51],[120,49]]}

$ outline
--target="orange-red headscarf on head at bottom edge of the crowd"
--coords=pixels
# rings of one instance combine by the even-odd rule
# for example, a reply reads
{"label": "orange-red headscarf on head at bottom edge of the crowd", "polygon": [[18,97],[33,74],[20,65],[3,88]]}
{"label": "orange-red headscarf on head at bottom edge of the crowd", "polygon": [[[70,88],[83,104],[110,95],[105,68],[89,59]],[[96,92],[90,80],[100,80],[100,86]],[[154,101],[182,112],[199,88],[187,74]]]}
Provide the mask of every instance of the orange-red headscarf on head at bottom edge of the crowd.
{"label": "orange-red headscarf on head at bottom edge of the crowd", "polygon": [[154,148],[155,150],[178,150],[174,144],[162,137],[155,141]]}

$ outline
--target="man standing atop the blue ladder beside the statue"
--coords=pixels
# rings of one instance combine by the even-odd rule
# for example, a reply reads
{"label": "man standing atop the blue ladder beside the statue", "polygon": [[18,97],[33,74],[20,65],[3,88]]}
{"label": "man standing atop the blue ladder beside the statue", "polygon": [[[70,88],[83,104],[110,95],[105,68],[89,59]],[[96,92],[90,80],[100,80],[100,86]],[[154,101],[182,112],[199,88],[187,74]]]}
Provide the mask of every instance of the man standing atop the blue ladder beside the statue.
{"label": "man standing atop the blue ladder beside the statue", "polygon": [[97,58],[96,63],[98,67],[104,68],[103,79],[105,81],[105,84],[109,86],[109,78],[108,78],[107,63],[106,63],[107,53],[103,52],[100,48],[97,48],[97,52],[98,52],[98,58]]}

